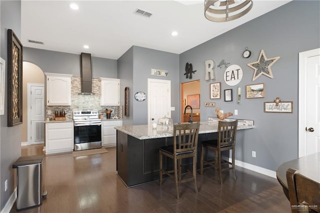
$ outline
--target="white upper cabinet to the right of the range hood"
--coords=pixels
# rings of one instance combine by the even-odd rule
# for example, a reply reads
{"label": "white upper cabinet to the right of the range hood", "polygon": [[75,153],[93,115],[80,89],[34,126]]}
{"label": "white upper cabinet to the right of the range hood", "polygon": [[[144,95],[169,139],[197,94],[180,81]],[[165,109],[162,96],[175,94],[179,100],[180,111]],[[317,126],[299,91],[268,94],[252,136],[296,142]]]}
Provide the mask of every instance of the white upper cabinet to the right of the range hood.
{"label": "white upper cabinet to the right of the range hood", "polygon": [[100,77],[100,105],[116,106],[120,104],[120,79]]}

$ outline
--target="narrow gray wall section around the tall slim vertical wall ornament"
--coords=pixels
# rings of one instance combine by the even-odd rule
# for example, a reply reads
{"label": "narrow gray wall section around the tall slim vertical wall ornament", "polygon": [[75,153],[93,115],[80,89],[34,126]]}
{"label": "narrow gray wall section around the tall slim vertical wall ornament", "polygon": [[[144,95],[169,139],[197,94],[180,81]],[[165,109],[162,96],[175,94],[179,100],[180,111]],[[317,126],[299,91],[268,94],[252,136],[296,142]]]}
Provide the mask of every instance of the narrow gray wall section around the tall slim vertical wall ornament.
{"label": "narrow gray wall section around the tall slim vertical wall ornament", "polygon": [[[118,78],[120,78],[120,105],[123,105],[122,125],[133,123],[133,46],[117,60]],[[129,116],[124,116],[124,88],[129,87]]]}

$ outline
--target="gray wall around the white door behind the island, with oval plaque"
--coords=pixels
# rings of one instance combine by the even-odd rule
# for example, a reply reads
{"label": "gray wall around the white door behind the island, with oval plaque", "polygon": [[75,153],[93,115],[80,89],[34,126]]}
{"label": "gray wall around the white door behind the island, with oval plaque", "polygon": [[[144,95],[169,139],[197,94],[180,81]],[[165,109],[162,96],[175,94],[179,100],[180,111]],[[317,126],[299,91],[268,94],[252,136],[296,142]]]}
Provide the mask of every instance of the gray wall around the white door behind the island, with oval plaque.
{"label": "gray wall around the white door behind the island, with oval plaque", "polygon": [[[147,78],[163,79],[171,81],[171,111],[173,122],[179,122],[179,55],[139,46],[133,46],[133,94],[143,91],[147,94]],[[168,70],[168,77],[151,76],[151,68]],[[133,100],[133,124],[147,124],[147,99],[145,101]]]}

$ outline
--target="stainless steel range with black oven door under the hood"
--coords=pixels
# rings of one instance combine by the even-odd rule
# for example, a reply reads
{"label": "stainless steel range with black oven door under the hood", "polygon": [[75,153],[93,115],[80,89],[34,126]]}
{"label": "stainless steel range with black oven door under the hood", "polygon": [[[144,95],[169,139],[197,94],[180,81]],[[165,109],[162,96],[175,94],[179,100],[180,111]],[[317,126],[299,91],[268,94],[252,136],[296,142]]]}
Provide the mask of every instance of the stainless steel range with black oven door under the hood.
{"label": "stainless steel range with black oven door under the hood", "polygon": [[73,111],[74,151],[101,148],[101,119],[97,110]]}

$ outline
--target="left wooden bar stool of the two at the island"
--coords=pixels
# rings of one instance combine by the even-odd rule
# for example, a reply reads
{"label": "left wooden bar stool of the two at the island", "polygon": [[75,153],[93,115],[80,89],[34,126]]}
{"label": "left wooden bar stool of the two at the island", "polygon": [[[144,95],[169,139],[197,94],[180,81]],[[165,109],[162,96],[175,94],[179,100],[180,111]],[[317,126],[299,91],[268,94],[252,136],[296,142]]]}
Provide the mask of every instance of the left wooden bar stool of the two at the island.
{"label": "left wooden bar stool of the two at the island", "polygon": [[[198,142],[199,123],[173,124],[173,145],[159,149],[159,184],[162,185],[162,175],[174,177],[176,197],[179,199],[179,184],[186,181],[194,181],[195,192],[198,192],[196,184],[196,146]],[[162,156],[173,159],[173,170],[165,170],[162,167]],[[181,161],[183,158],[192,157],[192,177],[181,179]],[[187,171],[189,171],[187,169]],[[190,172],[190,171],[189,171]],[[174,173],[174,175],[172,175]]]}

